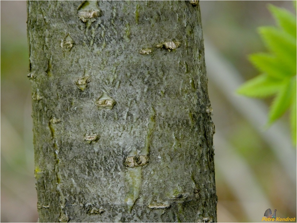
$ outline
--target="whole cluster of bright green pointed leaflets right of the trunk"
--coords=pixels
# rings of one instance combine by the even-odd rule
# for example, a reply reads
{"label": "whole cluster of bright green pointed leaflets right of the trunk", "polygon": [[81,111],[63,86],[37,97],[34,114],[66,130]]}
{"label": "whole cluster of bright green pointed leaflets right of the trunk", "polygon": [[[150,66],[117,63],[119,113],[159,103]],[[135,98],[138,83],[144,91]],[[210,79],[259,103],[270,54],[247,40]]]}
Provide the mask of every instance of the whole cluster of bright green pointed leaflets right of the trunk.
{"label": "whole cluster of bright green pointed leaflets right of the trunk", "polygon": [[[296,1],[294,4],[296,7]],[[244,83],[237,92],[249,97],[276,94],[268,114],[268,124],[290,108],[292,141],[296,144],[296,15],[273,5],[268,7],[279,28],[259,28],[263,42],[270,52],[249,56],[249,60],[262,74]]]}

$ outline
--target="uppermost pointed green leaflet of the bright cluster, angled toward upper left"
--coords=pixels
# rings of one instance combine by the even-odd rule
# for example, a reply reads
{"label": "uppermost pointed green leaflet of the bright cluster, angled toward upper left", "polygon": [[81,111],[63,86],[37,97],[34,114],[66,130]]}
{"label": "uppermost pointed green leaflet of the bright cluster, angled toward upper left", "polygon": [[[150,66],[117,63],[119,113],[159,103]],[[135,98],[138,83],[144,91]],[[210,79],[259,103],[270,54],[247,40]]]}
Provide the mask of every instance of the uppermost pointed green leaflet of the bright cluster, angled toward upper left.
{"label": "uppermost pointed green leaflet of the bright cluster, angled toward upper left", "polygon": [[[295,1],[296,2],[296,1]],[[296,38],[296,17],[289,11],[269,4],[268,8],[282,29]]]}

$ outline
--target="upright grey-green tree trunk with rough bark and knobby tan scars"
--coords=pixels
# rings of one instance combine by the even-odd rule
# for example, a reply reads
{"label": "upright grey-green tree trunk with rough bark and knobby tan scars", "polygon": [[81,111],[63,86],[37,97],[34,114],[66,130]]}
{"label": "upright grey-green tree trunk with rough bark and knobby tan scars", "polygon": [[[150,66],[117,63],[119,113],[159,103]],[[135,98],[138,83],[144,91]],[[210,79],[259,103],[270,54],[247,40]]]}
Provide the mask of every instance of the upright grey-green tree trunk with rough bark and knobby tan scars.
{"label": "upright grey-green tree trunk with rough bark and knobby tan scars", "polygon": [[194,2],[28,2],[40,222],[217,221]]}

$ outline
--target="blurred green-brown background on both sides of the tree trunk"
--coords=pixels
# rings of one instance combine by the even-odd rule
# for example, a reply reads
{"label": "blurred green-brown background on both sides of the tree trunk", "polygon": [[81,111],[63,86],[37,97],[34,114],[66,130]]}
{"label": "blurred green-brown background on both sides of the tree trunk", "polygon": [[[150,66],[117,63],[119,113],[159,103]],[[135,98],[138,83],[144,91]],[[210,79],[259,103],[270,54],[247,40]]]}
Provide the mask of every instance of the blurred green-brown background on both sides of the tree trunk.
{"label": "blurred green-brown background on both sides of the tree trunk", "polygon": [[[266,51],[258,26],[275,25],[267,4],[296,15],[292,1],[200,1],[213,108],[218,222],[260,222],[266,209],[296,217],[296,146],[288,115],[266,129],[271,99],[236,95]],[[1,1],[1,222],[37,222],[26,1]],[[295,221],[296,222],[296,221]]]}

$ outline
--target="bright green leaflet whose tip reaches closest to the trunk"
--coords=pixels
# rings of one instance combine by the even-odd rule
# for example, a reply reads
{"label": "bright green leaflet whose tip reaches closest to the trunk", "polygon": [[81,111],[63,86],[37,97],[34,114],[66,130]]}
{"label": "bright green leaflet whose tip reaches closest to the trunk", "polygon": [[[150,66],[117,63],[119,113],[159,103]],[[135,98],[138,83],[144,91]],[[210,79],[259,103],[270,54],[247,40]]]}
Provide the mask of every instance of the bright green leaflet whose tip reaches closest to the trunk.
{"label": "bright green leaflet whose tip reaches closest to the trunk", "polygon": [[265,98],[279,91],[281,83],[266,74],[259,75],[237,89],[237,93],[248,97]]}

